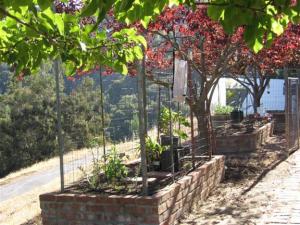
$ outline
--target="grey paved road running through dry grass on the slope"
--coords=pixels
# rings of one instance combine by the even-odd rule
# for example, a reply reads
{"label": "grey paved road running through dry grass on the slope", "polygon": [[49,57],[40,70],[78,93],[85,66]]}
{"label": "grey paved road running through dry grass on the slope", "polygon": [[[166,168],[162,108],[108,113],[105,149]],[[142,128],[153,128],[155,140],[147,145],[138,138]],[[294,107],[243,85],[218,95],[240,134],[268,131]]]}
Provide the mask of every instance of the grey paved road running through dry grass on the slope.
{"label": "grey paved road running through dry grass on the slope", "polygon": [[[74,165],[79,167],[86,165],[91,161],[92,156],[89,156],[87,158],[83,157],[66,163],[64,166],[65,174],[71,172],[74,169]],[[9,184],[0,185],[0,203],[18,195],[25,194],[36,187],[48,184],[59,177],[59,167],[55,166],[49,170],[35,172],[29,176],[25,176],[24,178],[17,179]]]}

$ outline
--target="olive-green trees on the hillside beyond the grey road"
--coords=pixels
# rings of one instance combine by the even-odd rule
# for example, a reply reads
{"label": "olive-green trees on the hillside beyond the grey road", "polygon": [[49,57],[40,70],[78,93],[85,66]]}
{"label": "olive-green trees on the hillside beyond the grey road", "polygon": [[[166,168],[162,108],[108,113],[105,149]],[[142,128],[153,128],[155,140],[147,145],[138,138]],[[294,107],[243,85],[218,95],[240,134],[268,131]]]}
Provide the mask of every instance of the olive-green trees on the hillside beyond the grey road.
{"label": "olive-green trees on the hillside beyond the grey road", "polygon": [[[62,93],[65,151],[89,146],[94,136],[101,135],[99,91],[91,86],[93,82],[84,79],[76,94]],[[0,177],[58,153],[51,67],[46,65],[41,74],[22,82],[12,79],[6,88],[0,94]]]}

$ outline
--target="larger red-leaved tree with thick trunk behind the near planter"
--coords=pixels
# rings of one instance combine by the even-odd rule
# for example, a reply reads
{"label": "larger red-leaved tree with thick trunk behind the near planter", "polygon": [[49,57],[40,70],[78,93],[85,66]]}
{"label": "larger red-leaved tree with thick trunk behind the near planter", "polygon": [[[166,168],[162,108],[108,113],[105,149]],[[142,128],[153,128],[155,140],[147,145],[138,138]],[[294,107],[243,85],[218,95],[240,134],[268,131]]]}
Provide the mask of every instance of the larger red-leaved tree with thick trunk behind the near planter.
{"label": "larger red-leaved tree with thick trunk behind the near planter", "polygon": [[198,120],[199,140],[212,146],[209,131],[210,105],[219,79],[238,63],[235,57],[242,44],[242,29],[228,35],[221,25],[207,16],[207,9],[184,6],[167,8],[144,31],[148,40],[146,65],[148,77],[153,71],[172,69],[172,52],[188,61],[192,79],[187,101]]}

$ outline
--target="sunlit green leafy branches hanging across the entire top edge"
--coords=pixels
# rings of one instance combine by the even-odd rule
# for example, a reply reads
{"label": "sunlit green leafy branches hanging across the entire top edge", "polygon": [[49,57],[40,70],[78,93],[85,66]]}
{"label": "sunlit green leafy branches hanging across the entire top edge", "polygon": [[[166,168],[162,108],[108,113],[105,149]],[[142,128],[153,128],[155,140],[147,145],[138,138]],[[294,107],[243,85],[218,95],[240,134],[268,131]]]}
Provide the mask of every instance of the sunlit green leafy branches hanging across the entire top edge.
{"label": "sunlit green leafy branches hanging across the entire top edge", "polygon": [[[66,2],[66,1],[64,1]],[[3,0],[0,4],[0,60],[8,63],[17,75],[35,73],[44,60],[61,58],[66,73],[106,65],[122,74],[128,63],[143,57],[145,39],[133,28],[109,34],[98,26],[110,10],[120,21],[139,21],[144,27],[166,6],[195,0],[87,0],[76,13],[56,13],[50,0]],[[299,22],[300,2],[289,0],[213,0],[208,13],[221,22],[228,33],[244,26],[244,39],[258,52],[284,31],[289,22]],[[75,11],[75,9],[74,9]],[[94,17],[94,25],[82,26],[82,19]],[[103,25],[103,23],[101,24]],[[267,37],[267,43],[264,38]]]}

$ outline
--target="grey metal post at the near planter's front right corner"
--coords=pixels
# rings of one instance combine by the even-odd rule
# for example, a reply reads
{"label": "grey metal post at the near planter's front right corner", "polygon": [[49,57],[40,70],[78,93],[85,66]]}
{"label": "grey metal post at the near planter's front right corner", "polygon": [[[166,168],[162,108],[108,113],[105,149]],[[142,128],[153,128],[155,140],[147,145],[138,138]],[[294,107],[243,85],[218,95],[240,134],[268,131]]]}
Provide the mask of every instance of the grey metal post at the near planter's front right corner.
{"label": "grey metal post at the near planter's front right corner", "polygon": [[146,106],[145,106],[145,59],[137,62],[138,69],[138,110],[139,110],[139,137],[141,145],[141,168],[143,179],[143,194],[148,194],[148,177],[147,177],[147,156],[146,156]]}

